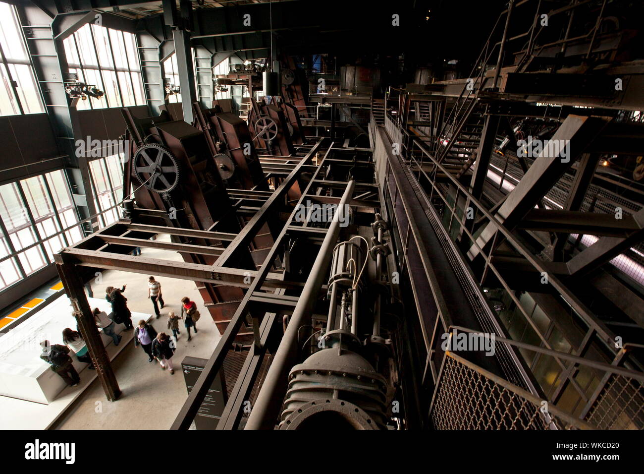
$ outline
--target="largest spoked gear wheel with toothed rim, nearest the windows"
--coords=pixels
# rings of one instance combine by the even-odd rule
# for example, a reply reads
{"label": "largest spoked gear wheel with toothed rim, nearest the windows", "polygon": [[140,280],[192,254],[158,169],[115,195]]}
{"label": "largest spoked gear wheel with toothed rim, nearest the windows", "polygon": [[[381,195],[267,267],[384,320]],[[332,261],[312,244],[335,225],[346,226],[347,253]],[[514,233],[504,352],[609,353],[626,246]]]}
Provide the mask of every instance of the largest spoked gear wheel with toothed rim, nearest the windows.
{"label": "largest spoked gear wheel with toothed rim, nearest the windows", "polygon": [[179,164],[163,145],[149,143],[139,146],[133,166],[138,181],[156,193],[171,192],[179,184]]}

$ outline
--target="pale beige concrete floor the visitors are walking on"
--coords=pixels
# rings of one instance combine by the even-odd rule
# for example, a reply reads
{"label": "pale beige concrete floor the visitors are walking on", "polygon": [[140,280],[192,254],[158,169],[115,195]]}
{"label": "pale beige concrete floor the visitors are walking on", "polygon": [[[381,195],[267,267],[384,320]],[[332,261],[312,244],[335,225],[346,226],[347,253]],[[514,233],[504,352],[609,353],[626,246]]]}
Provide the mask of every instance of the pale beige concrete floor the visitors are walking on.
{"label": "pale beige concrete floor the visitors are walking on", "polygon": [[[166,240],[166,239],[162,239]],[[167,239],[169,241],[169,239]],[[182,261],[178,253],[165,250],[142,249],[142,255],[151,258]],[[117,272],[106,270],[100,284],[92,284],[94,297],[102,298],[107,286],[128,284],[124,295],[128,298],[131,311],[153,313],[152,302],[147,299],[147,276],[140,273]],[[108,402],[100,384],[95,380],[74,402],[69,410],[53,424],[55,430],[167,430],[187,398],[187,390],[181,361],[185,356],[208,359],[220,339],[219,331],[204,301],[192,281],[157,278],[162,285],[162,294],[166,307],[161,310],[161,317],[152,321],[157,331],[167,330],[167,312],[181,310],[181,298],[189,297],[195,301],[202,317],[197,323],[199,332],[187,342],[183,321],[176,352],[173,357],[175,374],[161,370],[158,362],[147,362],[147,355],[140,346],[135,348],[129,342],[113,361],[113,368],[118,386],[123,392],[116,402]],[[133,321],[137,324],[138,321]]]}

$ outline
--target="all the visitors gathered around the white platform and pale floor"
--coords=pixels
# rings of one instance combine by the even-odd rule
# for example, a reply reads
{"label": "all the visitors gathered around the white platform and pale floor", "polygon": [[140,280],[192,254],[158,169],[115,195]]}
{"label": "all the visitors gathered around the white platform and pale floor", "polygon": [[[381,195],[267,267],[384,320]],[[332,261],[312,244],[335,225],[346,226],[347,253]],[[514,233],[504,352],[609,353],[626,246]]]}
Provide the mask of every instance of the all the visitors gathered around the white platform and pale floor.
{"label": "all the visitors gathered around the white platform and pale floor", "polygon": [[[166,306],[163,301],[161,284],[156,281],[155,277],[149,277],[147,288],[148,297],[152,301],[156,318],[158,319],[161,316],[160,309]],[[123,295],[125,290],[126,285],[123,285],[122,288],[114,288],[113,286],[106,288],[105,299],[111,302],[112,305],[111,317],[105,311],[100,311],[99,308],[93,310],[97,327],[103,334],[112,338],[115,346],[118,346],[122,339],[122,336],[117,335],[115,331],[116,324],[124,324],[126,330],[133,328],[132,313],[127,304],[128,299]],[[188,341],[190,341],[192,339],[191,329],[194,330],[194,333],[197,333],[196,322],[199,318],[200,313],[197,310],[196,303],[188,297],[184,297],[181,299],[181,314],[176,315],[174,311],[169,311],[167,315],[167,329],[172,331],[175,341],[165,332],[157,333],[152,324],[142,319],[138,322],[134,333],[135,346],[143,348],[148,356],[148,362],[158,360],[162,370],[168,368],[170,374],[173,375],[175,369],[172,364],[172,357],[176,350],[176,341],[178,341],[181,334],[179,320],[184,320],[184,327],[188,333]],[[94,368],[88,348],[78,329],[74,331],[71,328],[65,328],[62,331],[62,342],[65,345],[52,345],[49,341],[41,342],[43,349],[41,359],[51,364],[52,370],[58,373],[72,387],[77,386],[81,378],[73,366],[70,351],[75,353],[79,361],[90,364],[90,369]]]}

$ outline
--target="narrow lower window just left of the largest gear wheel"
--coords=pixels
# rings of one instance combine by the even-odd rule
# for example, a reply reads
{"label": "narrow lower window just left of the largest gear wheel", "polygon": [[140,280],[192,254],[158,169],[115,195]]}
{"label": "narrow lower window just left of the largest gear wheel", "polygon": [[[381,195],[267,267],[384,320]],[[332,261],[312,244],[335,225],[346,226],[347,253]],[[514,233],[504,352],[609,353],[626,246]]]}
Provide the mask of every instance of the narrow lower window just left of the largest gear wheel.
{"label": "narrow lower window just left of the largest gear wheel", "polygon": [[122,201],[123,161],[122,153],[90,161],[94,206],[96,212],[100,213],[101,227],[118,221],[118,207],[115,204]]}

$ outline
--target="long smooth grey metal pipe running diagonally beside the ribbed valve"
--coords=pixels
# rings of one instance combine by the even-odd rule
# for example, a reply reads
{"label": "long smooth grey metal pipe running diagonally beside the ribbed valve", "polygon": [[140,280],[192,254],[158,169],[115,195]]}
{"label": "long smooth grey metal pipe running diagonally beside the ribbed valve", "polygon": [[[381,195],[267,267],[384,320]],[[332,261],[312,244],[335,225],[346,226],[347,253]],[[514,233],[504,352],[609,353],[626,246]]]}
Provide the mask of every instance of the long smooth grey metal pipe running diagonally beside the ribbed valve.
{"label": "long smooth grey metal pipe running diagonally beside the ribbed valve", "polygon": [[327,277],[326,269],[333,255],[333,248],[337,238],[340,235],[340,217],[346,219],[345,213],[348,212],[348,202],[351,201],[354,186],[354,181],[349,181],[346,184],[345,193],[337,206],[336,215],[334,215],[327,235],[325,235],[319,252],[317,252],[316,261],[308,274],[307,282],[299,297],[298,304],[290,317],[289,326],[279,344],[272,364],[270,364],[255,406],[252,407],[251,416],[246,423],[245,430],[272,430],[275,427],[282,402],[282,397],[276,396],[276,394],[281,388],[284,389],[284,392],[286,391],[290,368],[297,362],[298,328],[305,324],[307,317],[310,317],[316,304],[319,290]]}

